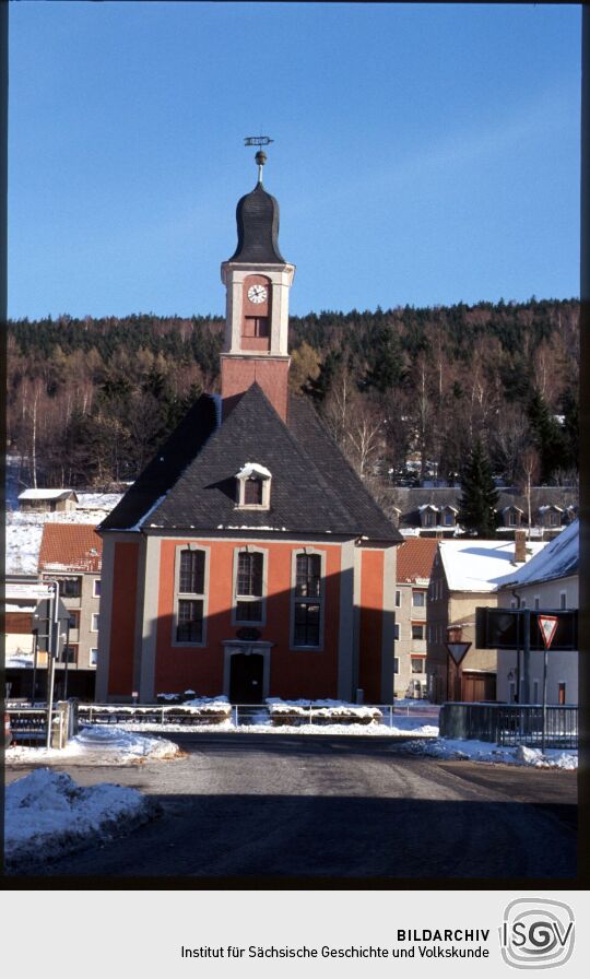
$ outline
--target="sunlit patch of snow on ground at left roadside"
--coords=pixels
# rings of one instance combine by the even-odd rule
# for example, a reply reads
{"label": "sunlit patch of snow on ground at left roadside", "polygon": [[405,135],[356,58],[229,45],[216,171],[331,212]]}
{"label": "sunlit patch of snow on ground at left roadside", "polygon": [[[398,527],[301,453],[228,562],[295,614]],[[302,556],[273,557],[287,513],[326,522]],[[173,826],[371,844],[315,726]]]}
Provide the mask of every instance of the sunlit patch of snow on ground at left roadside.
{"label": "sunlit patch of snow on ground at left roadside", "polygon": [[[150,728],[153,731],[153,727]],[[160,728],[158,728],[160,730]],[[181,729],[180,729],[181,730]],[[72,738],[64,748],[24,747],[16,745],[5,752],[7,765],[36,762],[68,762],[78,765],[130,765],[146,760],[174,758],[180,748],[164,738],[145,738],[120,726],[88,724]]]}

